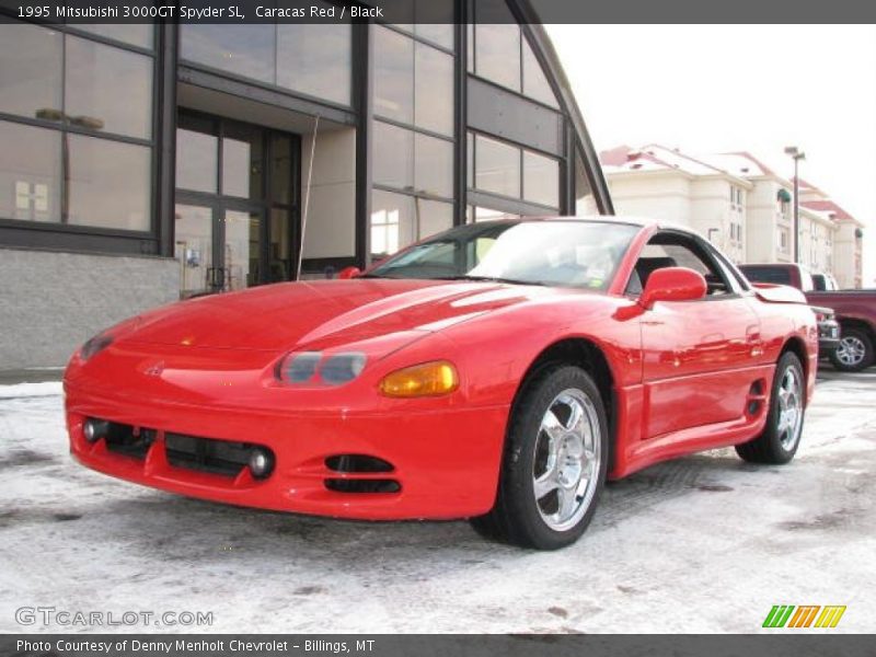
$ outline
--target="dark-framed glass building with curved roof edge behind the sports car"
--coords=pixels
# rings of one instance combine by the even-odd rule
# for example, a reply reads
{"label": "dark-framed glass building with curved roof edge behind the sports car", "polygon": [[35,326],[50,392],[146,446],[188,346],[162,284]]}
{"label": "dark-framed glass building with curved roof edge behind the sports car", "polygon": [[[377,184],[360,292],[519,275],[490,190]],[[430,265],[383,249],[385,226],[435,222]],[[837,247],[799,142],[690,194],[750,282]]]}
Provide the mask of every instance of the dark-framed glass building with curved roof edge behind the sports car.
{"label": "dark-framed glass building with curved roof edge behind the sports car", "polygon": [[528,1],[411,8],[404,24],[0,22],[0,369],[466,221],[611,212]]}

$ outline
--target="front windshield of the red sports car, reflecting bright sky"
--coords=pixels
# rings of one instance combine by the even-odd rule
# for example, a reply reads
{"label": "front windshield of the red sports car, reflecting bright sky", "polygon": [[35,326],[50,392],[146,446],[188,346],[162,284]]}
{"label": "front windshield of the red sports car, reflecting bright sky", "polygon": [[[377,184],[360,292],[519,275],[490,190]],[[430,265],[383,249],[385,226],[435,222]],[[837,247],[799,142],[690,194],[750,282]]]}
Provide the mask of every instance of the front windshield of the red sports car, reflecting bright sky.
{"label": "front windshield of the red sports car, reflecting bright sky", "polygon": [[604,290],[637,231],[608,221],[472,223],[402,251],[365,276]]}

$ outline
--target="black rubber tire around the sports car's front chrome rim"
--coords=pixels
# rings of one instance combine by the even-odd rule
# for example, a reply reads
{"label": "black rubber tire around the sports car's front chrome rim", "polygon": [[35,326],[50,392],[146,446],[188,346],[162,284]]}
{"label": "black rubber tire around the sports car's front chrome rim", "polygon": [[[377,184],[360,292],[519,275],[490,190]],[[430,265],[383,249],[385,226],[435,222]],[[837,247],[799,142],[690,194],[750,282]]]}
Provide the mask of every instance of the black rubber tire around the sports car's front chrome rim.
{"label": "black rubber tire around the sports car's front chrome rim", "polygon": [[[574,489],[573,499],[577,505],[574,507],[576,511],[569,518],[569,522],[574,525],[557,530],[543,517],[540,504],[544,503],[535,499],[533,480],[537,459],[540,458],[537,450],[542,446],[540,440],[544,441],[546,436],[542,433],[542,420],[548,411],[554,408],[554,404],[558,403],[557,400],[563,399],[568,391],[589,401],[589,405],[585,404],[583,407],[589,408],[587,416],[589,426],[598,425],[599,436],[595,435],[596,431],[590,431],[595,459],[588,461],[585,458],[583,461],[590,463],[591,472],[596,471],[595,481],[591,475],[588,481],[592,483],[585,484],[585,492],[580,495],[579,488],[574,486],[569,488]],[[546,366],[525,383],[511,411],[496,504],[489,514],[472,518],[471,523],[475,531],[485,538],[521,548],[557,550],[569,545],[578,540],[593,517],[604,487],[608,462],[609,424],[604,403],[592,378],[578,367],[563,364]],[[555,468],[553,472],[558,472],[558,476],[563,476],[562,466]],[[555,494],[557,517],[562,512],[560,493],[561,489],[557,487]],[[578,518],[583,509],[584,512]]]}

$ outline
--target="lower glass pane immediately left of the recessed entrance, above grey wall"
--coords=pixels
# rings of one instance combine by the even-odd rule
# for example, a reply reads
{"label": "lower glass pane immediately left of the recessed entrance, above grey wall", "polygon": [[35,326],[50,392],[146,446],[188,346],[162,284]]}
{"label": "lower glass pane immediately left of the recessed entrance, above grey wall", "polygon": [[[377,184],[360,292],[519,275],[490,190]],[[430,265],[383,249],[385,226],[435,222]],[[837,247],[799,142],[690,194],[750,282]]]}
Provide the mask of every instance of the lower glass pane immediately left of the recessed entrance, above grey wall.
{"label": "lower glass pane immediately left of the recessed entrance, above grey wall", "polygon": [[69,210],[79,226],[151,228],[149,147],[67,135]]}

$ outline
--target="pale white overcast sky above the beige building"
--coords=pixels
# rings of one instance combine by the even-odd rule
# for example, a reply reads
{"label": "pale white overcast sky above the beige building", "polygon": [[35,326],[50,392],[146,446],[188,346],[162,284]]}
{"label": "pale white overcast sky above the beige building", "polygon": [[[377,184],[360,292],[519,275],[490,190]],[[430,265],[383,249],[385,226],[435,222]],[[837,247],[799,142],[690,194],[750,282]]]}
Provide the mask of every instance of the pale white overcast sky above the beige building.
{"label": "pale white overcast sky above the beige building", "polygon": [[549,25],[597,149],[747,150],[863,221],[876,287],[876,26]]}

